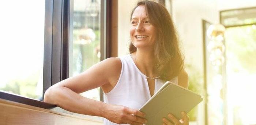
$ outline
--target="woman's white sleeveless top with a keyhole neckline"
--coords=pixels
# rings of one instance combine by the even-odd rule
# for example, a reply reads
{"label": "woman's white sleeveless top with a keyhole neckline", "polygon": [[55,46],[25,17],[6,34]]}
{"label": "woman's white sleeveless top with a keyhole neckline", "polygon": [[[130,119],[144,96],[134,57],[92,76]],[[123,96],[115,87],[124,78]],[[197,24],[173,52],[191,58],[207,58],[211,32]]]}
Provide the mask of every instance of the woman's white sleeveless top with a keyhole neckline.
{"label": "woman's white sleeveless top with a keyhole neckline", "polygon": [[[122,62],[120,77],[116,86],[109,93],[104,93],[104,102],[139,110],[151,98],[147,76],[138,69],[130,54],[119,58]],[[177,77],[173,78],[171,82],[178,84]],[[164,83],[160,79],[155,79],[154,93]],[[118,124],[104,118],[104,125]]]}

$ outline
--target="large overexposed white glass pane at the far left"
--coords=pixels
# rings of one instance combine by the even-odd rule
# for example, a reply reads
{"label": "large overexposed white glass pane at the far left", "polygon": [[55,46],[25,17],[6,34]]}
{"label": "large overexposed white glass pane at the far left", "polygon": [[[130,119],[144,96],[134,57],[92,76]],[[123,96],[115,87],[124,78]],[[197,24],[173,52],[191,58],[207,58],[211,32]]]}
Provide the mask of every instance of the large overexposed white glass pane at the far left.
{"label": "large overexposed white glass pane at the far left", "polygon": [[41,99],[45,0],[4,0],[0,15],[0,90]]}

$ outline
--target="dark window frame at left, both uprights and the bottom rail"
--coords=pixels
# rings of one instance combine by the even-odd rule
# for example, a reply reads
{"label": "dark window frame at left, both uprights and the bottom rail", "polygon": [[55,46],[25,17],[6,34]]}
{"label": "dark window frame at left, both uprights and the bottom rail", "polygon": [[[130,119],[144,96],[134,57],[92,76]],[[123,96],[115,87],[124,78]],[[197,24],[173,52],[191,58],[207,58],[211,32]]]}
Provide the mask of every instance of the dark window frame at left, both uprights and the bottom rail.
{"label": "dark window frame at left, both uprights and the bottom rail", "polygon": [[[112,0],[101,0],[101,60],[111,57],[111,41],[109,37]],[[44,36],[44,69],[43,97],[45,91],[57,82],[69,77],[69,46],[73,34],[74,0],[45,0],[45,36]],[[0,91],[0,98],[52,109],[55,105],[21,95]],[[100,90],[103,101],[103,91]]]}

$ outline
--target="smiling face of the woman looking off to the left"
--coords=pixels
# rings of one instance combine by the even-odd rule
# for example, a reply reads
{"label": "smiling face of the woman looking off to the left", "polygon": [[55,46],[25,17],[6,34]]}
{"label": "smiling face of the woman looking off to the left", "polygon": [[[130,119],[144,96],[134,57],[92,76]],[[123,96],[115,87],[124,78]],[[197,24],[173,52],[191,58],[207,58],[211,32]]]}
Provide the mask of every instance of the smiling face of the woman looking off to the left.
{"label": "smiling face of the woman looking off to the left", "polygon": [[132,15],[130,37],[137,48],[152,48],[156,39],[156,28],[150,23],[144,5],[138,6]]}

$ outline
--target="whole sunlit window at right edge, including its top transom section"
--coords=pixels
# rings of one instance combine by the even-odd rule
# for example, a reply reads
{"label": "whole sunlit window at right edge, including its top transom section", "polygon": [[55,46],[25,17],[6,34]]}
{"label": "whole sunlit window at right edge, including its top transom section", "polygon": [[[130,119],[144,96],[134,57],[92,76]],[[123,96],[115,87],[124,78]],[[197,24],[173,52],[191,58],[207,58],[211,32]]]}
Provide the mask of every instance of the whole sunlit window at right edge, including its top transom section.
{"label": "whole sunlit window at right edge, including its top transom section", "polygon": [[221,11],[226,27],[226,112],[227,125],[255,124],[256,101],[256,7]]}

